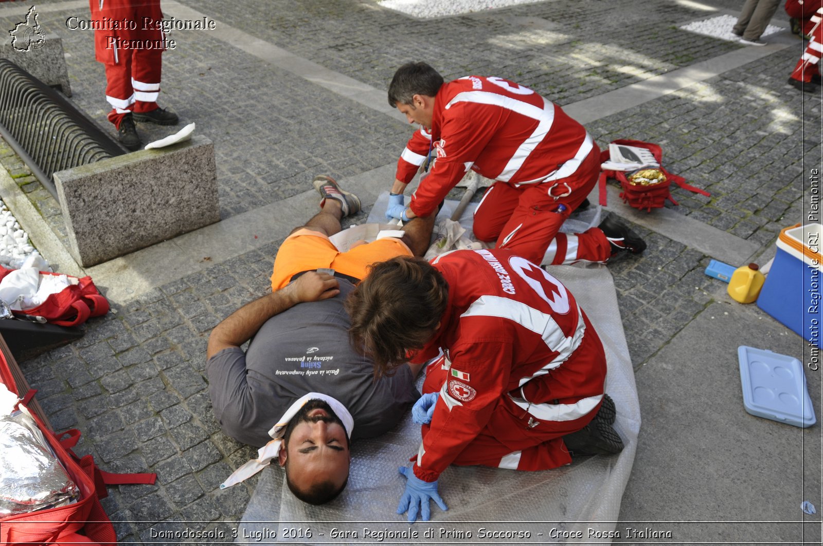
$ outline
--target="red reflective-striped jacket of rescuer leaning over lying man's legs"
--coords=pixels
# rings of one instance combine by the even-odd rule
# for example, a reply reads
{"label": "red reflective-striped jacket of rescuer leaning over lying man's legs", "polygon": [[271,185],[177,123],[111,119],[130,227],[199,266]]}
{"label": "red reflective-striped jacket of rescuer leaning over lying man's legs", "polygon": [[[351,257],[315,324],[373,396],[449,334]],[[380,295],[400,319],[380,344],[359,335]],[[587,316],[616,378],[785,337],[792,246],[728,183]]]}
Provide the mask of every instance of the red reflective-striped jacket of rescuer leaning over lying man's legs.
{"label": "red reflective-striped jacket of rescuer leaning over lying man's legs", "polygon": [[551,182],[578,168],[593,141],[559,106],[528,87],[498,77],[466,76],[440,87],[431,132],[409,139],[398,161],[408,183],[433,146],[437,160],[412,195],[428,215],[468,169],[513,185]]}

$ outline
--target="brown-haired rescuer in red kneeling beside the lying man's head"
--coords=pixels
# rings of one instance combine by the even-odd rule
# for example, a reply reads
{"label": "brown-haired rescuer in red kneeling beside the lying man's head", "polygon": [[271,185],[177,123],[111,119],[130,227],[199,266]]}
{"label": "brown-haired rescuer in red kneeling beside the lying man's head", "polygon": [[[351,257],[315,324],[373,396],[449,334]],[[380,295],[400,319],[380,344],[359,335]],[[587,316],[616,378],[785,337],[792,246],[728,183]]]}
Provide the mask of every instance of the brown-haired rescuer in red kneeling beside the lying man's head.
{"label": "brown-haired rescuer in red kneeling beside the lying man's head", "polygon": [[435,359],[412,409],[423,424],[398,514],[446,510],[437,479],[449,465],[546,470],[623,442],[603,392],[606,356],[574,297],[505,250],[458,250],[375,264],[346,300],[351,335],[377,374]]}

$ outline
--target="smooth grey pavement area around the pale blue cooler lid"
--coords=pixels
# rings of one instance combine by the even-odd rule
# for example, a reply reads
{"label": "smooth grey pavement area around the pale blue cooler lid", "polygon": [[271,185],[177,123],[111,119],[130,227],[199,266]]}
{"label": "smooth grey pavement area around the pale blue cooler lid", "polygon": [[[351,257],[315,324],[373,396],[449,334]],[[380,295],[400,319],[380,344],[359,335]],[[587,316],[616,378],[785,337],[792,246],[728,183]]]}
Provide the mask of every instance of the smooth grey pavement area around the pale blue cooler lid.
{"label": "smooth grey pavement area around the pale blue cooler lid", "polygon": [[[797,523],[723,521],[816,521],[819,532],[820,515],[805,516],[800,503],[820,498],[820,425],[803,429],[747,414],[738,345],[807,362],[802,339],[756,307],[709,305],[635,374],[643,423],[621,521],[640,528],[704,521],[678,534],[685,543],[795,542],[802,531]],[[819,402],[821,372],[804,368]],[[819,405],[815,411],[819,419]]]}

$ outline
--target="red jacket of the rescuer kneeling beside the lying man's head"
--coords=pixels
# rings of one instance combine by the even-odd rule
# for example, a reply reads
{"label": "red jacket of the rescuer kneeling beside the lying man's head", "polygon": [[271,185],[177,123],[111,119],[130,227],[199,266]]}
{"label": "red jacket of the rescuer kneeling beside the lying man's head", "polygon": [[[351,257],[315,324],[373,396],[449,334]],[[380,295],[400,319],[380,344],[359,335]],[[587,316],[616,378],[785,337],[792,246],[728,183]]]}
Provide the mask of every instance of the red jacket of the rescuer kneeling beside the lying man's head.
{"label": "red jacket of the rescuer kneeling beside the lying man's head", "polygon": [[[414,360],[425,362],[442,348],[450,369],[414,466],[418,478],[437,479],[504,401],[551,401],[539,419],[559,423],[599,407],[606,378],[602,345],[559,280],[503,250],[451,252],[433,264],[449,283],[449,303],[439,331]],[[575,354],[584,336],[593,336],[584,344],[593,358]],[[518,437],[528,433],[500,436],[507,444],[504,437],[511,437],[514,451]]]}

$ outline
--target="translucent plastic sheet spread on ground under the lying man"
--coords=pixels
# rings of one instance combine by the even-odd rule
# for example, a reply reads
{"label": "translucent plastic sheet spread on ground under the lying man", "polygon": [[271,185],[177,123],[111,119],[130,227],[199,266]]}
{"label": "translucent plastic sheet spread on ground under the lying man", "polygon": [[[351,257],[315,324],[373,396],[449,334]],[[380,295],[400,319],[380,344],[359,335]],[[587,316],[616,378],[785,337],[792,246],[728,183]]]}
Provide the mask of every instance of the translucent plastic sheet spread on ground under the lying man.
{"label": "translucent plastic sheet spread on ground under the lying man", "polygon": [[[379,198],[370,221],[385,221],[386,197],[388,194]],[[448,218],[451,213],[446,208],[456,204],[446,201],[440,215]],[[599,212],[597,207],[598,217]],[[467,211],[461,224],[468,220],[470,228],[471,215],[472,211]],[[584,231],[599,220],[578,221],[584,225],[570,231]],[[360,234],[360,229],[351,230],[355,238],[360,238]],[[553,266],[550,271],[574,294],[602,340],[608,362],[606,392],[615,400],[614,427],[625,443],[620,455],[583,457],[571,465],[542,472],[451,466],[439,478],[439,493],[449,511],[441,511],[432,502],[431,521],[410,525],[406,515],[395,513],[406,481],[398,474],[398,466],[410,464],[409,458],[416,455],[421,441],[420,427],[407,414],[392,432],[352,443],[348,486],[340,497],[326,505],[314,507],[297,500],[277,466],[263,470],[240,522],[236,541],[608,542],[608,533],[616,527],[637,448],[640,412],[635,375],[614,281],[607,267]],[[418,387],[421,383],[422,374]]]}

